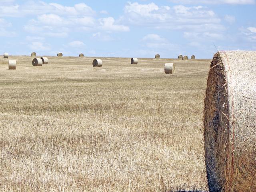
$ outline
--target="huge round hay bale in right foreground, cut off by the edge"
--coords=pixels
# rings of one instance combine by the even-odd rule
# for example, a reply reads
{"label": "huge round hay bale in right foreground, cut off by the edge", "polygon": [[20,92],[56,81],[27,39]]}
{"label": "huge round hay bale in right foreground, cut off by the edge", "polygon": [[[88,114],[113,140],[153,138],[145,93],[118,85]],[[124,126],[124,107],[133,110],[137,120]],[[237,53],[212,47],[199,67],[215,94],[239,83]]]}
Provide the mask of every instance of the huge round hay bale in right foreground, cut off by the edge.
{"label": "huge round hay bale in right foreground, cut off by the edge", "polygon": [[214,55],[204,100],[210,192],[256,191],[256,52]]}

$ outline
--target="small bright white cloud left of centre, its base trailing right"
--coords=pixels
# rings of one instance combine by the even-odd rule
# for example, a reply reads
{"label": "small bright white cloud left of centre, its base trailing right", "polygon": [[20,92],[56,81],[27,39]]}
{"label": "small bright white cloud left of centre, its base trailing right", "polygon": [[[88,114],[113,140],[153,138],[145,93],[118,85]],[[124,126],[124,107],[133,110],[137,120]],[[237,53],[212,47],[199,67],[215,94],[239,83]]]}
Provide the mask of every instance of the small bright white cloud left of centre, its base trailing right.
{"label": "small bright white cloud left of centre, its base trailing right", "polygon": [[107,31],[122,31],[122,32],[127,32],[130,30],[128,26],[124,25],[115,25],[114,24],[115,20],[112,17],[108,18],[101,18],[100,19],[100,28],[103,30]]}

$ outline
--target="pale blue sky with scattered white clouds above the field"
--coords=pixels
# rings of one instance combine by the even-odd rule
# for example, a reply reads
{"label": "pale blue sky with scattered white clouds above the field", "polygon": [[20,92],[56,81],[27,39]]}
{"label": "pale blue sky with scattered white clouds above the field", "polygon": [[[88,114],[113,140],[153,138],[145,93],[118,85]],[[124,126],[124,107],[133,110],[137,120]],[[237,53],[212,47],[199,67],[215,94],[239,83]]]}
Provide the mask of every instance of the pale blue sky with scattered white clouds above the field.
{"label": "pale blue sky with scattered white clouds above the field", "polygon": [[256,0],[0,0],[10,55],[212,58],[256,50]]}

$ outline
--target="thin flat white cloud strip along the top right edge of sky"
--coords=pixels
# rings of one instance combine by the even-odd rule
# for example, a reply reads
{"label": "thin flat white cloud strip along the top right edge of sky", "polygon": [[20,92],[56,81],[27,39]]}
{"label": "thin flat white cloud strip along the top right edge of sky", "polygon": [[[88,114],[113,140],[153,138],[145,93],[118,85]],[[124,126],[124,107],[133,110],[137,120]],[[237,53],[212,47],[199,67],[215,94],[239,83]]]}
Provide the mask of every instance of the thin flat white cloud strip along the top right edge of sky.
{"label": "thin flat white cloud strip along the top right edge of sky", "polygon": [[170,0],[178,4],[255,4],[255,0]]}

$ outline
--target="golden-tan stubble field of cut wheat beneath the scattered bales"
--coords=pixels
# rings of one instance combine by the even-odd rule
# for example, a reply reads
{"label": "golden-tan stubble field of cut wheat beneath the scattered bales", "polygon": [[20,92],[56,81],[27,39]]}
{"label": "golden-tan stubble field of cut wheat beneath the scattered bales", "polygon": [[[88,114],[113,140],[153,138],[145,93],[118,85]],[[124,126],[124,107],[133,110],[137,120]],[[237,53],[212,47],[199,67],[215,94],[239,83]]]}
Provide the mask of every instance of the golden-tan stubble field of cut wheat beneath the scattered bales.
{"label": "golden-tan stubble field of cut wheat beneath the scattered bales", "polygon": [[206,191],[210,60],[9,59],[18,66],[0,59],[0,191]]}

